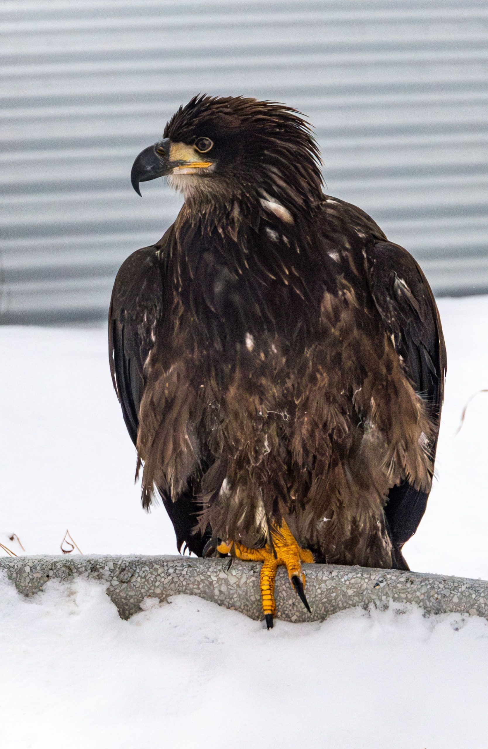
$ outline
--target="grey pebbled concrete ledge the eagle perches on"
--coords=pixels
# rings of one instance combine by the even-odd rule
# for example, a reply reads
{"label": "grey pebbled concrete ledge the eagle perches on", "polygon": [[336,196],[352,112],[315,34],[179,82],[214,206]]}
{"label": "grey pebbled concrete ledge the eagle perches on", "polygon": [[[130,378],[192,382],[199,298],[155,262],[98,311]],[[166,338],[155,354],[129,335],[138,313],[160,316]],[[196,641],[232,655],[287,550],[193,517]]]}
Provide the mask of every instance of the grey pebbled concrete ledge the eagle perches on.
{"label": "grey pebbled concrete ledge the eagle perches on", "polygon": [[[251,619],[262,619],[260,564],[236,560],[230,570],[227,566],[228,560],[196,557],[6,557],[0,559],[0,574],[27,596],[49,580],[101,580],[123,619],[139,611],[147,596],[165,601],[178,593],[199,595]],[[312,613],[307,613],[284,568],[279,568],[278,619],[321,622],[344,609],[371,604],[384,608],[389,601],[418,604],[426,613],[467,613],[488,619],[486,580],[339,565],[304,565],[304,569]]]}

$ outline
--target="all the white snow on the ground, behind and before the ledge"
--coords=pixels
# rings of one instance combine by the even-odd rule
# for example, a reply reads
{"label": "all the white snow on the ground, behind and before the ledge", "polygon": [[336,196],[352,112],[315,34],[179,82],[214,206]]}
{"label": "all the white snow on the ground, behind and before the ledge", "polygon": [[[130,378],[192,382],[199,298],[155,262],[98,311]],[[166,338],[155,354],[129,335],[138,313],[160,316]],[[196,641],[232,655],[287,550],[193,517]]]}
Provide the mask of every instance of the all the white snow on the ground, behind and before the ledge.
{"label": "all the white snow on the ground, behind and before the ledge", "polygon": [[[488,578],[488,297],[439,300],[448,379],[438,481],[406,545],[414,570]],[[106,330],[0,327],[0,542],[59,553],[173,554],[145,515],[109,377]],[[323,624],[260,622],[198,598],[147,601],[129,622],[103,586],[0,579],[2,749],[486,746],[488,624],[415,608]]]}

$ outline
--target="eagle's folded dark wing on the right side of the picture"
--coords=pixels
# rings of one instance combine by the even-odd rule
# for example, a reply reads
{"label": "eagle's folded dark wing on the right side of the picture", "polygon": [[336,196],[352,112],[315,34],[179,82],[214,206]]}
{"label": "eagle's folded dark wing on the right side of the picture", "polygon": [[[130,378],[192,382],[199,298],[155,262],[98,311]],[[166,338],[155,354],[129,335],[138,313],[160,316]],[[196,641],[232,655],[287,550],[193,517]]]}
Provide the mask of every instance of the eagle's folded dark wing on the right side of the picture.
{"label": "eagle's folded dark wing on the right side of the picture", "polygon": [[[427,279],[412,255],[390,242],[376,242],[366,253],[366,263],[370,291],[388,335],[415,391],[424,398],[431,419],[439,425],[446,352],[439,312]],[[437,438],[430,445],[433,458],[436,444]],[[407,481],[389,493],[385,515],[400,568],[406,567],[401,548],[417,530],[427,497]]]}

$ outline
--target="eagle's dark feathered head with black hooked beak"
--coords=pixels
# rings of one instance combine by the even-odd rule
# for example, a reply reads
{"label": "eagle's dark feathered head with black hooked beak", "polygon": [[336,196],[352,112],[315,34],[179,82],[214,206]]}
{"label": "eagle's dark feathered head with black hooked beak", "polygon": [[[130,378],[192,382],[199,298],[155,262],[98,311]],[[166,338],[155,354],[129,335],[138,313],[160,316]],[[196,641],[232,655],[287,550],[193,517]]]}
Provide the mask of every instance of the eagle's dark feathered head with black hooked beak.
{"label": "eagle's dark feathered head with black hooked beak", "polygon": [[131,181],[167,177],[188,204],[275,202],[290,212],[320,201],[317,143],[299,112],[244,97],[198,96],[173,115],[162,140],[145,148]]}

